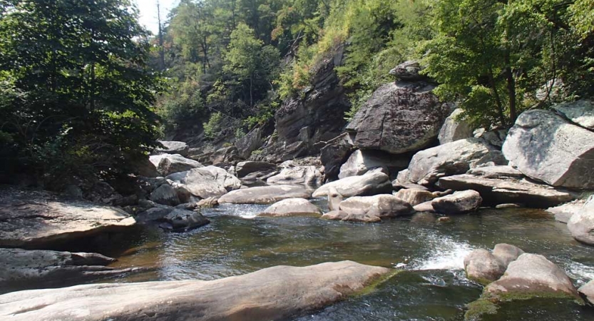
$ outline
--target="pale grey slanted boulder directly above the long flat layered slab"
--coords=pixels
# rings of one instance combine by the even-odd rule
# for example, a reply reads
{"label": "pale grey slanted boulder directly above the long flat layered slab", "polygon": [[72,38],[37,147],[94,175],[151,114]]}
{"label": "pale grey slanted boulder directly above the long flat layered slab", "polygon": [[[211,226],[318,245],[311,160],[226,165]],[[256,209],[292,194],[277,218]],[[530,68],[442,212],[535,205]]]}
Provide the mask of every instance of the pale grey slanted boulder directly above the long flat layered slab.
{"label": "pale grey slanted boulder directly above the long flat layered slab", "polygon": [[398,181],[433,185],[441,177],[466,173],[495,152],[497,151],[491,146],[477,138],[461,139],[429,148],[413,156],[406,177],[399,174]]}

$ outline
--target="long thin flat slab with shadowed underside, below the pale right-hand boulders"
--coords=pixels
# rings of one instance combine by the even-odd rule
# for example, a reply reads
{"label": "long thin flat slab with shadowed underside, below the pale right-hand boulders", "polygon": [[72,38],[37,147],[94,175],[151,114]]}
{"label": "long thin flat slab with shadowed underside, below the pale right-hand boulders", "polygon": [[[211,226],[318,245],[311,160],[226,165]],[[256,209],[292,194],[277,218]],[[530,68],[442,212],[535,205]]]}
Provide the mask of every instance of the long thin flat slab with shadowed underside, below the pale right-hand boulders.
{"label": "long thin flat slab with shadowed underside, below the pale right-hand boulders", "polygon": [[521,203],[531,208],[548,208],[573,200],[564,190],[528,180],[463,174],[439,178],[437,185],[452,190],[476,190],[487,204]]}

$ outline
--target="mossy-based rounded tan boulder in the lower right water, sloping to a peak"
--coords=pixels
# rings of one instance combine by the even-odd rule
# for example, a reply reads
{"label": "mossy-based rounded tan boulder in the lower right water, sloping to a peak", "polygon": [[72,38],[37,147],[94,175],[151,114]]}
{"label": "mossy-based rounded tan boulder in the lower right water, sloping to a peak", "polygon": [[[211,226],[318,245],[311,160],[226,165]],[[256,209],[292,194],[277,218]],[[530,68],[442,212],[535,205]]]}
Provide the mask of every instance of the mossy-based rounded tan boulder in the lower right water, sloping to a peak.
{"label": "mossy-based rounded tan boulder in the lower right water, sloping to a peak", "polygon": [[555,263],[543,255],[523,253],[509,263],[499,280],[484,293],[498,300],[526,300],[531,297],[560,297],[580,300],[573,282]]}

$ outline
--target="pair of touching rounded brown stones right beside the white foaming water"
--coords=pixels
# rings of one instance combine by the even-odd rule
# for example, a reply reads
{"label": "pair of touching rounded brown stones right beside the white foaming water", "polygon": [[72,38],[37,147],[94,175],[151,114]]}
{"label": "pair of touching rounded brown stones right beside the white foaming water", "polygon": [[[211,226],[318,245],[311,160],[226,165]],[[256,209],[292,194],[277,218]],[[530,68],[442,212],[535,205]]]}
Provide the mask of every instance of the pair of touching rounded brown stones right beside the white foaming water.
{"label": "pair of touching rounded brown stones right beside the white foaming water", "polygon": [[509,265],[524,253],[523,250],[509,244],[498,244],[493,253],[488,250],[473,250],[464,258],[466,276],[476,282],[486,285],[498,280]]}

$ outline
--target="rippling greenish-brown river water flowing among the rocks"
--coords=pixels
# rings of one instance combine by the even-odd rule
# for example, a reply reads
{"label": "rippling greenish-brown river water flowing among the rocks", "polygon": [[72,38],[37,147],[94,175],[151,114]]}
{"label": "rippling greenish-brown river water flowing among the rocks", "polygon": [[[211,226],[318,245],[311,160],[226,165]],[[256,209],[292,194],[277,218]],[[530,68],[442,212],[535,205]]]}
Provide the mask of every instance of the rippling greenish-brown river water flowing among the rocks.
{"label": "rippling greenish-brown river water flowing among the rocks", "polygon": [[[326,201],[314,200],[327,209]],[[113,267],[154,267],[111,282],[214,280],[275,265],[354,260],[404,269],[369,295],[354,297],[293,320],[463,320],[464,306],[481,287],[466,279],[464,256],[475,248],[510,243],[545,255],[573,278],[594,279],[594,248],[571,238],[543,210],[483,209],[453,215],[448,223],[417,213],[382,223],[319,218],[256,218],[264,205],[220,205],[204,210],[212,223],[187,233],[137,228],[108,253]],[[105,282],[105,280],[101,281]],[[531,300],[503,305],[485,320],[594,320],[594,309],[568,302]]]}

